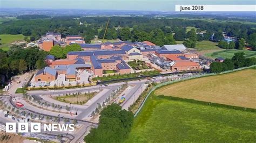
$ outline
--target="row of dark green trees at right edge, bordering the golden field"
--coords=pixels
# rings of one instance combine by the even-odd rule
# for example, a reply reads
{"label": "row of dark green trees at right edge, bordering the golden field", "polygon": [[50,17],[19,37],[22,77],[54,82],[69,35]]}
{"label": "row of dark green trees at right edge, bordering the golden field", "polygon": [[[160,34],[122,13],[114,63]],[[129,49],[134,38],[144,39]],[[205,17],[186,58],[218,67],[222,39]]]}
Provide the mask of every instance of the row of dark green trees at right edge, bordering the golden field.
{"label": "row of dark green trees at right edge, bordering the golden field", "polygon": [[242,67],[256,65],[255,58],[245,58],[245,53],[235,53],[232,59],[225,59],[224,62],[212,62],[210,65],[211,73],[233,70]]}

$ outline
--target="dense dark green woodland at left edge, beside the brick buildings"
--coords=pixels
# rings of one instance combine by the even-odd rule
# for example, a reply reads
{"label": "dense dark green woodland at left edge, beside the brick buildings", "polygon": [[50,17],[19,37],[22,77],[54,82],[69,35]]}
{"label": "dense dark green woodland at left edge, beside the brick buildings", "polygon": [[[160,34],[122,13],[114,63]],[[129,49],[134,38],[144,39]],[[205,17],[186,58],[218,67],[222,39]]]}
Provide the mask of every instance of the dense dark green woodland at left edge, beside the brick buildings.
{"label": "dense dark green woodland at left edge, beside the brick buildings", "polygon": [[[12,46],[8,52],[0,49],[0,75],[9,78],[46,66],[44,59],[48,52],[39,50],[38,47],[24,49],[23,46]],[[3,84],[1,80],[0,87],[3,87]]]}

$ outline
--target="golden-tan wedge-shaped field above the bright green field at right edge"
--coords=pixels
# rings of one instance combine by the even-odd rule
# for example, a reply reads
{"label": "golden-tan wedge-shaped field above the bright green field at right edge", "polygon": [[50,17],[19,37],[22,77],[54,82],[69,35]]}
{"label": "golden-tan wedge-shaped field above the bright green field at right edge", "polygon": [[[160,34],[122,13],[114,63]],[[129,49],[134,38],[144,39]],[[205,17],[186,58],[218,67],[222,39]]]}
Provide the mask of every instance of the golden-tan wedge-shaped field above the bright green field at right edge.
{"label": "golden-tan wedge-shaped field above the bright green field at right edge", "polygon": [[256,109],[256,70],[196,78],[159,88],[156,95]]}

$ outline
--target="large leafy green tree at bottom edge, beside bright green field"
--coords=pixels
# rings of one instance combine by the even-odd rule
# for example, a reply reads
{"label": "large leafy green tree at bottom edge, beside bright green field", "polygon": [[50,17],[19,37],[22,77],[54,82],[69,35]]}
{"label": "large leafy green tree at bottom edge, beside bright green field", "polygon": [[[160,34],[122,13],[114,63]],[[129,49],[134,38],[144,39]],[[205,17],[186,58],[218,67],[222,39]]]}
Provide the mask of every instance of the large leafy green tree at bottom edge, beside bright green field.
{"label": "large leafy green tree at bottom edge, beside bright green field", "polygon": [[85,142],[123,142],[131,131],[133,114],[118,104],[108,105],[100,113],[99,125],[92,128]]}

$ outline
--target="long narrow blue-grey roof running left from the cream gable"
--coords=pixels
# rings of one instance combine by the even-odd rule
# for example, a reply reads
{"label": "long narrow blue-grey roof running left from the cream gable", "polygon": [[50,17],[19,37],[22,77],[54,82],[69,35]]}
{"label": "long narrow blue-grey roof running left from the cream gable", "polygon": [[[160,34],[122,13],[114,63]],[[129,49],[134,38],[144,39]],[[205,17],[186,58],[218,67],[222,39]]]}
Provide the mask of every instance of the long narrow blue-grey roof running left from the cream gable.
{"label": "long narrow blue-grey roof running left from the cream gable", "polygon": [[78,55],[78,56],[92,56],[92,55],[120,55],[126,54],[124,50],[97,50],[97,51],[77,51],[69,52],[68,55]]}

